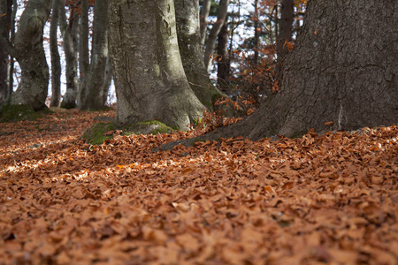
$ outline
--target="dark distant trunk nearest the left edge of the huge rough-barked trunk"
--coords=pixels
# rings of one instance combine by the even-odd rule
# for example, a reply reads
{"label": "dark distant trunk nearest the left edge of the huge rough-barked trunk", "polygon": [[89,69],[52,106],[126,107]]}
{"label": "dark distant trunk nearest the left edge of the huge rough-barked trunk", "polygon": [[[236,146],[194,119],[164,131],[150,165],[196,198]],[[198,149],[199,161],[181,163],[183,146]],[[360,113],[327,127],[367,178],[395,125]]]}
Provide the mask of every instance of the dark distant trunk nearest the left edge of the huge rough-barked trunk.
{"label": "dark distant trunk nearest the left edge of the huge rough-barked trunk", "polygon": [[295,12],[293,10],[294,0],[282,0],[279,33],[277,36],[277,53],[278,62],[281,62],[287,55],[288,49],[286,42],[292,41],[293,36],[293,20],[295,19]]}

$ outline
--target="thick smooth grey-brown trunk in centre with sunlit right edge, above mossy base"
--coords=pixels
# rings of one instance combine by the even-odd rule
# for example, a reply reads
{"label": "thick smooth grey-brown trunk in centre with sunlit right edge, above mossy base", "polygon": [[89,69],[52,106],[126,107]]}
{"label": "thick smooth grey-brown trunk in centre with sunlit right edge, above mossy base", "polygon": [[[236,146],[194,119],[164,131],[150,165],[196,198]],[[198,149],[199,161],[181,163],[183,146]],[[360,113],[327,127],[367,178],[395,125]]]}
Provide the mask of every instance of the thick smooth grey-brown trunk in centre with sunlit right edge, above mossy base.
{"label": "thick smooth grey-brown trunk in centre with sunlit right edge, above mossy base", "polygon": [[119,122],[184,129],[202,115],[181,63],[172,0],[112,1],[110,27]]}

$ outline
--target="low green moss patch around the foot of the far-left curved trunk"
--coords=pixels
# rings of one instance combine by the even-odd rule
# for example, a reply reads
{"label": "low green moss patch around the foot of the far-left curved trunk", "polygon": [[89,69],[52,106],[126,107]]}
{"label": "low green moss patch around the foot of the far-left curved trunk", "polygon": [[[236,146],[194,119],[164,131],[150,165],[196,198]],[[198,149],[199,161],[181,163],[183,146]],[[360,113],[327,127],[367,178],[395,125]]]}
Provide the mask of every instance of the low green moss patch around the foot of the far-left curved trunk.
{"label": "low green moss patch around the foot of the far-left curved trunk", "polygon": [[38,117],[41,117],[30,105],[6,105],[2,108],[0,116],[0,122],[36,120]]}

